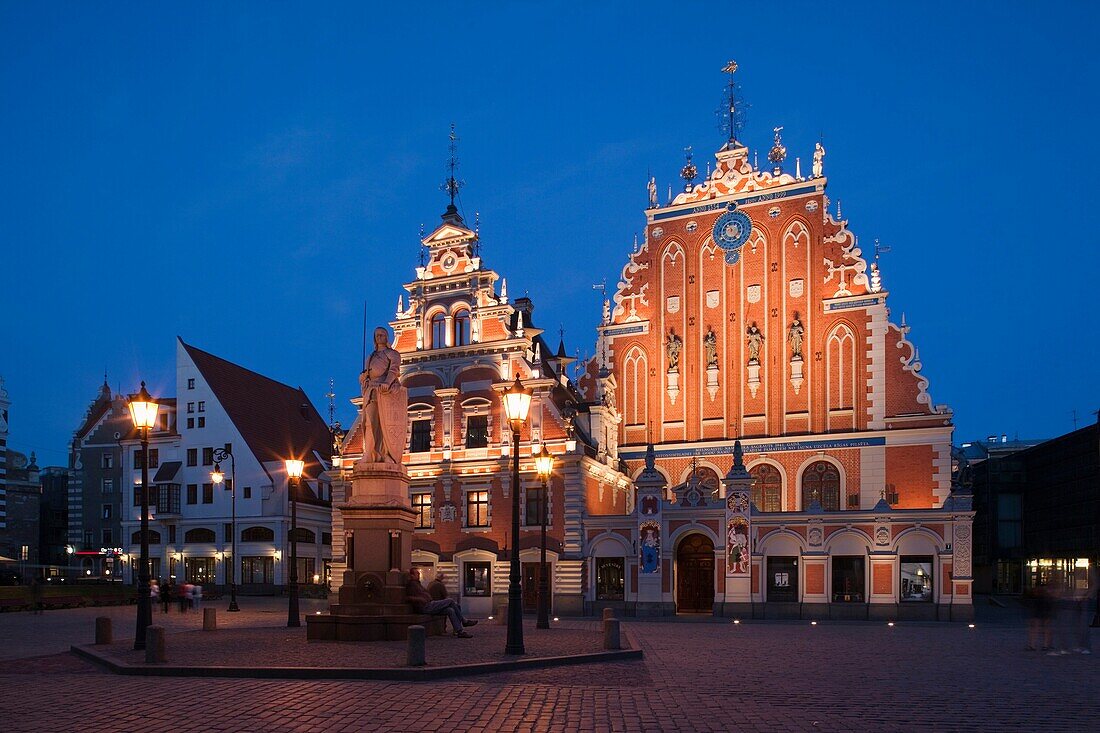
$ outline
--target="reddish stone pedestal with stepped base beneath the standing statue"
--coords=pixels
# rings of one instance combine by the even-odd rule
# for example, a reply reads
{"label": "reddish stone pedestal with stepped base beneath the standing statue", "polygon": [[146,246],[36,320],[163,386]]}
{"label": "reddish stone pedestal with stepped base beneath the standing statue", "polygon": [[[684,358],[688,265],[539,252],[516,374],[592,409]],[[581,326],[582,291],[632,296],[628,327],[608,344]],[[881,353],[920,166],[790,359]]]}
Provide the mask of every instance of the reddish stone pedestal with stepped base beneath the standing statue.
{"label": "reddish stone pedestal with stepped base beneath the standing statue", "polygon": [[337,603],[306,616],[309,641],[373,642],[406,638],[413,624],[443,632],[443,616],[416,613],[405,602],[416,512],[403,466],[360,461],[351,490],[336,508],[343,515],[346,562]]}

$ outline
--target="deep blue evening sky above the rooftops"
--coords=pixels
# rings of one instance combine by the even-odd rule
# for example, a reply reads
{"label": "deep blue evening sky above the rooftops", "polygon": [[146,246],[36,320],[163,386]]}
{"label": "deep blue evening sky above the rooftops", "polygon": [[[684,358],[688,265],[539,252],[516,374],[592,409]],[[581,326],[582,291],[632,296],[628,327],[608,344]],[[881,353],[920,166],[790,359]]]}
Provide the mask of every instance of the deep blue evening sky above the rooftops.
{"label": "deep blue evening sky above the rooftops", "polygon": [[[340,416],[361,319],[393,316],[446,200],[537,322],[591,350],[694,145],[785,125],[876,237],[961,441],[1055,436],[1100,404],[1096,3],[0,4],[0,375],[10,445],[65,446],[106,369],[174,391],[175,337]],[[580,4],[580,3],[578,3]],[[585,3],[596,4],[596,3]]]}

